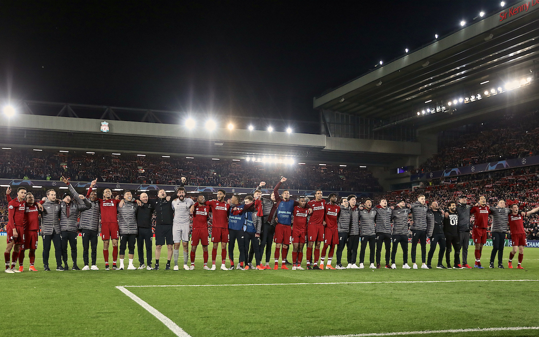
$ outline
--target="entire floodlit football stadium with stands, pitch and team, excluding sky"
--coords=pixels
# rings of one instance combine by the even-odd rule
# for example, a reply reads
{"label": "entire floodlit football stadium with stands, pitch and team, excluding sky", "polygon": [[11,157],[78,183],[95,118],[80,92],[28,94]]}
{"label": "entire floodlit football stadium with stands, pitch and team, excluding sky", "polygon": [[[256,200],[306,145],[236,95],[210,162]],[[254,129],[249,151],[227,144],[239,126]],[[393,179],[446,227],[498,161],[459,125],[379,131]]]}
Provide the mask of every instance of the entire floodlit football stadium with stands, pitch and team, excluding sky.
{"label": "entire floodlit football stadium with stands, pitch and team, excluding sky", "polygon": [[539,335],[539,2],[496,5],[295,127],[3,101],[0,335]]}

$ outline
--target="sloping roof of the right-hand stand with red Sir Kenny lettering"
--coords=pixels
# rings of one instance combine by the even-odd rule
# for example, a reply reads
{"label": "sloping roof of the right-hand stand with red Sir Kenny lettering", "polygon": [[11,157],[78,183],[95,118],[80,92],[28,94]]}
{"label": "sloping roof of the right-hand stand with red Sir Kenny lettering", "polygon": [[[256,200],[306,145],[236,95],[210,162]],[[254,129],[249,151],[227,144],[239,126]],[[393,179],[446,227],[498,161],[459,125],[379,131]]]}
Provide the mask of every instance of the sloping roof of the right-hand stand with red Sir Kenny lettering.
{"label": "sloping roof of the right-hand stand with red Sir Kenny lettering", "polygon": [[[538,51],[539,3],[518,2],[314,98],[314,108],[384,120],[386,125],[418,123],[417,112],[436,108],[437,102],[441,106],[465,95],[482,95],[492,85],[497,89],[531,76],[529,84],[535,87]],[[536,92],[528,90],[527,101],[539,100]],[[453,107],[446,106],[446,112]]]}

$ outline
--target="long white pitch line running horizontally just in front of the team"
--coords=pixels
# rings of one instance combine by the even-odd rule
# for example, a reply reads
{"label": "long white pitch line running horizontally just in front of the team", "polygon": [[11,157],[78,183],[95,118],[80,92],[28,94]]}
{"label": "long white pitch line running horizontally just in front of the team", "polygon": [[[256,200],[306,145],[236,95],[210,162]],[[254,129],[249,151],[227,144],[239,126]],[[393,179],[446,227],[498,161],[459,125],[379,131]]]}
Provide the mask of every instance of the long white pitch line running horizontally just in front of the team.
{"label": "long white pitch line running horizontally just in front of the team", "polygon": [[286,285],[331,285],[331,284],[398,284],[398,283],[458,283],[458,282],[537,282],[539,280],[437,280],[437,281],[362,281],[362,282],[302,282],[302,283],[244,283],[244,284],[171,284],[171,285],[131,285],[129,288],[150,287],[241,287],[241,286],[286,286]]}

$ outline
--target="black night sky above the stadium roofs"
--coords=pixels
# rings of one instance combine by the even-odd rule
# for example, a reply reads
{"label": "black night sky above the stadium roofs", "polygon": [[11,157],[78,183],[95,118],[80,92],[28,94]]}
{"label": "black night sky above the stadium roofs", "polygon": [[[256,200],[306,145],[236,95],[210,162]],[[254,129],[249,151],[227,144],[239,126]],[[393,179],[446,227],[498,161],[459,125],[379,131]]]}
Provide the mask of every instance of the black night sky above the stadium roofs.
{"label": "black night sky above the stadium roofs", "polygon": [[0,100],[10,91],[15,100],[312,120],[313,97],[497,9],[473,0],[0,0]]}

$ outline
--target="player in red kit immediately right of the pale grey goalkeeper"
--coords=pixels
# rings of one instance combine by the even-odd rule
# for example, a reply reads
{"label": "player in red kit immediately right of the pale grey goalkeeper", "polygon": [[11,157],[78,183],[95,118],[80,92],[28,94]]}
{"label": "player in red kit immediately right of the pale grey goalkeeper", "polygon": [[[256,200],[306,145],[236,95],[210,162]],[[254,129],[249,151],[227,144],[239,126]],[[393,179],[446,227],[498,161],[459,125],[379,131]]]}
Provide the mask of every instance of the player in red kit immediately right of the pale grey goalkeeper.
{"label": "player in red kit immediately right of the pale grey goalkeeper", "polygon": [[204,255],[204,269],[210,270],[208,267],[208,218],[210,217],[210,207],[205,204],[204,196],[198,195],[197,203],[193,206],[193,232],[191,234],[191,266],[190,270],[195,269],[195,257],[198,243],[202,244]]}

